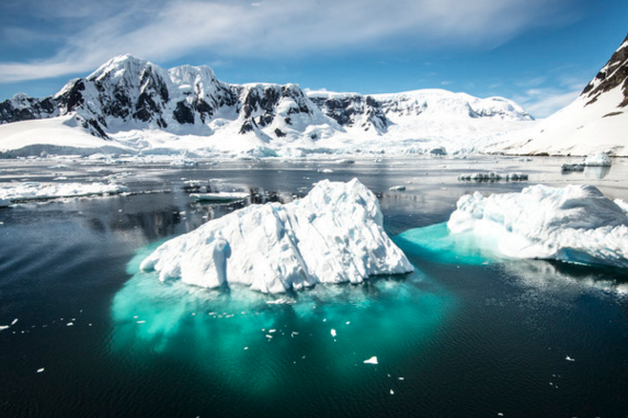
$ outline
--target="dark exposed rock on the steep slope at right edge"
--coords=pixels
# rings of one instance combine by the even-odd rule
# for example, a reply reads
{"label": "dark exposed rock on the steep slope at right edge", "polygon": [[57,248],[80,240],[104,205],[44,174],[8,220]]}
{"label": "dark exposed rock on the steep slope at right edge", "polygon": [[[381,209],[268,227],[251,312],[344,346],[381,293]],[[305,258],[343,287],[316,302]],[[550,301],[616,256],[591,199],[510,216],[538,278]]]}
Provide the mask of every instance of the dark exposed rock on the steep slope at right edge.
{"label": "dark exposed rock on the steep slope at right edge", "polygon": [[628,105],[628,82],[626,80],[628,80],[628,35],[621,46],[610,56],[608,63],[586,84],[581,95],[590,98],[586,103],[589,105],[595,103],[602,93],[623,86],[624,100],[618,108],[626,108]]}

